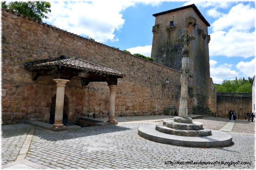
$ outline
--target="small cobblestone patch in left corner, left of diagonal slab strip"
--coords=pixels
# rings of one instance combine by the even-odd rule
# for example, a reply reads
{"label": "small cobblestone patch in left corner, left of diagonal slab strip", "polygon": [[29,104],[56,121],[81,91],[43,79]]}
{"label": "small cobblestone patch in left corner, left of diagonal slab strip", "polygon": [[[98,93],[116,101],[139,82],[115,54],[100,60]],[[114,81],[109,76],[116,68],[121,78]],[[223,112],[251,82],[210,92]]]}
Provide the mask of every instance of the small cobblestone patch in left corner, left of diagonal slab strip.
{"label": "small cobblestone patch in left corner, left of diagonal slab strip", "polygon": [[2,129],[2,164],[7,164],[16,160],[29,130],[30,128]]}

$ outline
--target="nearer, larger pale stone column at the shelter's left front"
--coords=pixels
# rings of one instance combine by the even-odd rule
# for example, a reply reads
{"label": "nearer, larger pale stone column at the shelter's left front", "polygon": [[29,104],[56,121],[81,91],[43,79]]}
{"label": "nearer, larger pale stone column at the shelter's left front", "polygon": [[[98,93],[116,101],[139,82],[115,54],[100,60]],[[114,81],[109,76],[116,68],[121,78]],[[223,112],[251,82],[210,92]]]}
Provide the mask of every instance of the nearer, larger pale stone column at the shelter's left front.
{"label": "nearer, larger pale stone column at the shelter's left front", "polygon": [[66,128],[63,123],[63,107],[64,107],[64,93],[65,93],[65,84],[69,81],[66,79],[53,79],[57,83],[56,89],[56,106],[55,106],[55,119],[54,124],[51,128]]}

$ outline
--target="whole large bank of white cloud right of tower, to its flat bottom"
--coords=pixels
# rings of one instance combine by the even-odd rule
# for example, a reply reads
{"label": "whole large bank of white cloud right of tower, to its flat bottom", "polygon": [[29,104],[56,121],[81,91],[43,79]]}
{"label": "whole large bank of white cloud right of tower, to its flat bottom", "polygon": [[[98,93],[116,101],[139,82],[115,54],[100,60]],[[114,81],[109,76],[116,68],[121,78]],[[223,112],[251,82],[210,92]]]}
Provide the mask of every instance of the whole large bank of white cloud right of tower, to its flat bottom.
{"label": "whole large bank of white cloud right of tower, to its flat bottom", "polygon": [[255,9],[249,4],[238,4],[233,6],[228,14],[214,21],[214,32],[209,43],[210,55],[244,58],[254,56],[255,13]]}

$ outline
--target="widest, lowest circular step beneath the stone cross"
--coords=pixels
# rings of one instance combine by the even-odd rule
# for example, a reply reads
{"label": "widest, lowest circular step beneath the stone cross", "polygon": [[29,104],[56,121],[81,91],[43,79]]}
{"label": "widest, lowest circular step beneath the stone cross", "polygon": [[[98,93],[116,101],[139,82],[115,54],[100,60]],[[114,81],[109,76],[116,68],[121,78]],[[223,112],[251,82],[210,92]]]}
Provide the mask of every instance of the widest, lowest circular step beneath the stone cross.
{"label": "widest, lowest circular step beneath the stone cross", "polygon": [[138,135],[158,143],[196,148],[224,147],[233,144],[232,136],[217,130],[212,130],[212,135],[210,136],[194,137],[165,134],[155,128],[155,125],[139,127]]}

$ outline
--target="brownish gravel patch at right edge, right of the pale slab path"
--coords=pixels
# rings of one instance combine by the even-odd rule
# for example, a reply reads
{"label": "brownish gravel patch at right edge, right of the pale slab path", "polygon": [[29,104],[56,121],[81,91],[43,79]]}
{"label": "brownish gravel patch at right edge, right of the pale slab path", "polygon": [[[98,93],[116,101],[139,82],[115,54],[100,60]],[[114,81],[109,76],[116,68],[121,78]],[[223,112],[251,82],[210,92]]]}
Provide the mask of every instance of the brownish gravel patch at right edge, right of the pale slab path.
{"label": "brownish gravel patch at right edge, right of the pale slab path", "polygon": [[255,132],[255,122],[248,122],[247,120],[237,120],[234,124],[232,132],[246,132],[254,133]]}

